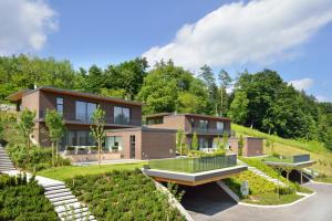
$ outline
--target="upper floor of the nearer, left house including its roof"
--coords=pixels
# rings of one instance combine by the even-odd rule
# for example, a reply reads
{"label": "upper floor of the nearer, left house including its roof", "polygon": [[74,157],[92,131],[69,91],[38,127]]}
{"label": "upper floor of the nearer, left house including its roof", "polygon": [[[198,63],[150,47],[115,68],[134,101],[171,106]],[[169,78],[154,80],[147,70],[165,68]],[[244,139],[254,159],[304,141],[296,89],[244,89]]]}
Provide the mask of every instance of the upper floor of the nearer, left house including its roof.
{"label": "upper floor of the nearer, left house including its roof", "polygon": [[17,104],[17,110],[35,110],[43,122],[46,109],[56,109],[66,124],[92,124],[97,105],[105,112],[106,125],[142,125],[142,103],[90,93],[42,86],[23,90],[8,96]]}

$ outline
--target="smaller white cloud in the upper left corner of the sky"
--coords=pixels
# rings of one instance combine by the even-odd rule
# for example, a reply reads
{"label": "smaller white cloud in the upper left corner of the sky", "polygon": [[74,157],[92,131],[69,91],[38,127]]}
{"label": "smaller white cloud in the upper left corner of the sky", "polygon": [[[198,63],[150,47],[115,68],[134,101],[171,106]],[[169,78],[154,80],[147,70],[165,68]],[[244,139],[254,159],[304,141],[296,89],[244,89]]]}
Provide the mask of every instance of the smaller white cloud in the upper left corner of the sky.
{"label": "smaller white cloud in the upper left corner of the sky", "polygon": [[56,29],[56,12],[42,0],[0,1],[0,55],[41,50]]}

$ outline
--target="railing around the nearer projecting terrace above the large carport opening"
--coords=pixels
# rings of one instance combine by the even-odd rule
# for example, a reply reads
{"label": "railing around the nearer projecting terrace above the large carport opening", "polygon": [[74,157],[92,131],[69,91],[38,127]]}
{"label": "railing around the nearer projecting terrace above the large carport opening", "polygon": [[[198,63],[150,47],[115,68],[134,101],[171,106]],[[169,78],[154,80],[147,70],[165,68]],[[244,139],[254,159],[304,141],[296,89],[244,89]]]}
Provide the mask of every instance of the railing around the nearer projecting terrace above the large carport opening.
{"label": "railing around the nearer projecting terrace above the large carport opening", "polygon": [[176,158],[176,159],[156,159],[149,160],[148,166],[152,169],[170,170],[178,172],[201,172],[215,169],[234,167],[237,165],[237,156],[211,156],[199,158]]}

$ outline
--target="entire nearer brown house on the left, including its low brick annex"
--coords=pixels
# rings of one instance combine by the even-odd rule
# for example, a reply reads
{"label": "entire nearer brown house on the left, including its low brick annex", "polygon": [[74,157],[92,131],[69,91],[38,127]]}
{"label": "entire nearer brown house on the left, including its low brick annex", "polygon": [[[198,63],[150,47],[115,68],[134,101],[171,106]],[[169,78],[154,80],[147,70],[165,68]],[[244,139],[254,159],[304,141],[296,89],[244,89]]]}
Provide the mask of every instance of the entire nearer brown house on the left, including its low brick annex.
{"label": "entire nearer brown house on the left, including its low brick annex", "polygon": [[[175,130],[147,130],[142,127],[143,104],[138,102],[51,86],[22,90],[9,95],[7,98],[17,104],[18,112],[28,108],[37,113],[31,140],[43,147],[51,146],[44,118],[46,109],[56,109],[61,113],[66,133],[60,141],[60,151],[65,150],[68,147],[75,147],[76,156],[71,157],[73,161],[97,159],[90,149],[90,147],[95,146],[95,141],[90,135],[90,127],[93,125],[91,117],[97,105],[105,110],[105,129],[116,129],[114,133],[112,130],[107,133],[108,137],[106,137],[103,159],[142,159],[143,156],[162,158],[172,156],[170,150],[175,149]],[[121,133],[124,137],[120,135]],[[142,141],[145,137],[146,141]],[[152,140],[155,140],[155,143]],[[160,144],[160,140],[168,141],[157,146],[156,141]],[[86,150],[81,150],[79,156],[77,147]],[[135,148],[137,149],[135,150]],[[113,155],[107,156],[107,152]]]}

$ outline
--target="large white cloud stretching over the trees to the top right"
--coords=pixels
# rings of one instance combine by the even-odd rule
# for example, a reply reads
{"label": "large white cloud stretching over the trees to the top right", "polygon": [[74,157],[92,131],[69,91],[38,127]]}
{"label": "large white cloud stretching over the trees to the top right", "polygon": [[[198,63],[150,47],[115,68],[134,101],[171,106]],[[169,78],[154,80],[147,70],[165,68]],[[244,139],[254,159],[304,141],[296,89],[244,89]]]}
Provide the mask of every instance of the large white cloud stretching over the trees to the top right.
{"label": "large white cloud stretching over the trees to the top right", "polygon": [[267,63],[292,59],[295,48],[332,21],[331,0],[253,0],[224,4],[185,24],[164,46],[143,56],[151,64],[172,59],[187,69]]}

